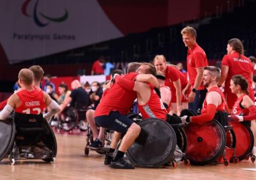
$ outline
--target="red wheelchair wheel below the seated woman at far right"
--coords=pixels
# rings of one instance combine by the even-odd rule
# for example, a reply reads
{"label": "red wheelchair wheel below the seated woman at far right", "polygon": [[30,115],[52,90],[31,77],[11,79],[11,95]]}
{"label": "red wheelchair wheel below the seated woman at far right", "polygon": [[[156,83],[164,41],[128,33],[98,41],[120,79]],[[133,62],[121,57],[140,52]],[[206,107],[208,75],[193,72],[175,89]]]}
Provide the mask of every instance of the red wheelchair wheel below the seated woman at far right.
{"label": "red wheelchair wheel below the seated woman at far right", "polygon": [[254,138],[251,128],[243,123],[230,123],[236,135],[236,157],[245,159],[253,150]]}

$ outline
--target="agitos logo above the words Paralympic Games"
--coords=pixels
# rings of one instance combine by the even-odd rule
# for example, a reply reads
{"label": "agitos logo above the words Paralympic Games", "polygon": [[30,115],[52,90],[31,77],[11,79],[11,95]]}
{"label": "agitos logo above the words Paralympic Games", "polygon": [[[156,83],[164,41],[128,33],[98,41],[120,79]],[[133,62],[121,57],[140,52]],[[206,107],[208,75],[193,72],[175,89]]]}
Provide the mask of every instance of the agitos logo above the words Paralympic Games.
{"label": "agitos logo above the words Paralympic Games", "polygon": [[47,22],[47,23],[43,23],[39,20],[38,18],[38,15],[40,15],[42,18],[48,20],[48,21],[51,21],[51,22],[63,22],[65,21],[67,18],[68,18],[68,11],[65,9],[65,14],[62,15],[61,17],[58,17],[58,18],[52,18],[52,17],[49,17],[41,12],[37,12],[37,5],[38,5],[38,2],[39,0],[36,1],[36,4],[34,6],[34,10],[33,10],[33,15],[32,14],[28,14],[27,13],[27,7],[28,7],[28,4],[30,3],[30,1],[32,0],[26,0],[23,4],[22,4],[22,7],[21,7],[21,12],[22,14],[26,15],[26,17],[32,17],[33,16],[33,19],[35,21],[35,23],[37,24],[37,26],[39,27],[45,27],[47,26],[50,22]]}

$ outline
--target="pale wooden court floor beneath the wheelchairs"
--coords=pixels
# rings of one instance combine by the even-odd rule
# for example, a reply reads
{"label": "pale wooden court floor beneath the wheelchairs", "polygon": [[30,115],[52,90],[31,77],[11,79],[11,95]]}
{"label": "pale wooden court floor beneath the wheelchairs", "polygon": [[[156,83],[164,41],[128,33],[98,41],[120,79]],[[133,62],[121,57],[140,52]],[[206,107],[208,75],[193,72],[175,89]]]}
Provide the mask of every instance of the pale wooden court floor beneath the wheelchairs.
{"label": "pale wooden court floor beneath the wheelchairs", "polygon": [[0,179],[256,179],[256,163],[242,161],[207,166],[185,166],[129,170],[112,169],[103,165],[104,157],[94,151],[84,155],[85,136],[56,134],[58,154],[55,163],[41,160],[0,162]]}

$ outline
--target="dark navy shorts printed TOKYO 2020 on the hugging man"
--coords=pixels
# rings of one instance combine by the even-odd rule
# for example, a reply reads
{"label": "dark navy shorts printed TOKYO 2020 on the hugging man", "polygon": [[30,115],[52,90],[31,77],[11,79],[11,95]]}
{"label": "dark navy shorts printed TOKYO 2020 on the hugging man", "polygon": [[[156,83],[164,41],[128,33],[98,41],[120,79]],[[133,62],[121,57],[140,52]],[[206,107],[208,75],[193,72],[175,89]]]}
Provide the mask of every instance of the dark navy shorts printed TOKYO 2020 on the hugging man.
{"label": "dark navy shorts printed TOKYO 2020 on the hugging man", "polygon": [[115,130],[119,133],[126,133],[134,122],[132,119],[127,118],[118,111],[110,111],[108,115],[97,116],[94,119],[97,125]]}

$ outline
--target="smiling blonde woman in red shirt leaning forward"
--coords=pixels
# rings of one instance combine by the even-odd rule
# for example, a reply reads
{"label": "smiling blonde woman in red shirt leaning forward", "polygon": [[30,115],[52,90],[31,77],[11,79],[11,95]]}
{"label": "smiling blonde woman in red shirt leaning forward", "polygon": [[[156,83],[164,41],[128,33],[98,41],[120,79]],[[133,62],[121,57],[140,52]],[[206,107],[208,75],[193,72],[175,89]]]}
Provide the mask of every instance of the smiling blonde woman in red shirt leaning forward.
{"label": "smiling blonde woman in red shirt leaning forward", "polygon": [[182,90],[188,84],[187,78],[177,68],[167,66],[164,55],[156,55],[154,65],[157,71],[164,73],[164,84],[170,87],[172,93],[171,109],[174,113],[179,115],[182,109],[188,108],[187,100],[182,96]]}

